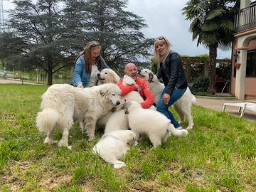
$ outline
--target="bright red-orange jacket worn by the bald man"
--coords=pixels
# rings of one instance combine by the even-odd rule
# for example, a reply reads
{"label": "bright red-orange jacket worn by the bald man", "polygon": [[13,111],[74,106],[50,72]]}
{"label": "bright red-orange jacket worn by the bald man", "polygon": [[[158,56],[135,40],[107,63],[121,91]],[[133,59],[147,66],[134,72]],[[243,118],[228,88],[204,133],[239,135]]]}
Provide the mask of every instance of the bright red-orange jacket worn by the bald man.
{"label": "bright red-orange jacket worn by the bald man", "polygon": [[[137,90],[135,85],[122,85],[122,81],[123,80],[121,79],[119,80],[119,83],[118,83],[118,86],[122,91],[121,96],[127,95],[129,92]],[[142,87],[142,90],[139,91],[139,95],[141,95],[145,100],[144,102],[141,103],[142,108],[146,109],[151,107],[151,105],[154,104],[154,96],[149,90],[148,83],[141,78],[137,78],[136,84],[139,85],[139,87]]]}

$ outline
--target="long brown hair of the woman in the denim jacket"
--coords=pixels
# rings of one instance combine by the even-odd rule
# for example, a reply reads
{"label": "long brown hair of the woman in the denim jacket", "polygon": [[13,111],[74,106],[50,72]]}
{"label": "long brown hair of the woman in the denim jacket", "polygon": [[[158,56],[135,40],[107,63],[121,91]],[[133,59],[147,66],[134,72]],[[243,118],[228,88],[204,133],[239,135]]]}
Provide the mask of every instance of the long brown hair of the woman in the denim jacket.
{"label": "long brown hair of the woman in the denim jacket", "polygon": [[[85,60],[85,69],[91,73],[92,72],[92,58],[91,58],[92,50],[95,50],[97,48],[101,49],[99,42],[90,41],[89,43],[87,43],[85,48],[80,52],[78,57],[75,59],[75,63],[77,62],[78,58],[80,58],[80,56],[83,55],[83,58]],[[104,60],[101,55],[99,55],[99,57],[96,59],[96,62],[97,61],[100,61],[100,63],[97,63],[97,64],[100,64],[100,69],[102,69]]]}

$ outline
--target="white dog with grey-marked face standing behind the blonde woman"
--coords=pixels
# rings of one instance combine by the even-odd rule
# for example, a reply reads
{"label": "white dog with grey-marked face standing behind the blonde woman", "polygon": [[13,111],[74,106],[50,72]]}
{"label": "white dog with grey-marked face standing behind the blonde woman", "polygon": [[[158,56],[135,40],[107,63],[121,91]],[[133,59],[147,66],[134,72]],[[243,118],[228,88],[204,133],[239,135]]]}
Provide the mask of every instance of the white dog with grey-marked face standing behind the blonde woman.
{"label": "white dog with grey-marked face standing behind the blonde woman", "polygon": [[[143,69],[139,70],[139,75],[149,82],[149,89],[154,95],[155,102],[158,103],[161,97],[161,92],[164,90],[164,84],[159,82],[156,75],[154,75],[151,70]],[[189,87],[184,92],[183,96],[177,100],[173,107],[174,110],[178,113],[181,122],[184,122],[184,117],[188,119],[188,127],[186,129],[193,129],[193,117],[191,115],[191,107],[196,103],[196,97],[191,93]]]}

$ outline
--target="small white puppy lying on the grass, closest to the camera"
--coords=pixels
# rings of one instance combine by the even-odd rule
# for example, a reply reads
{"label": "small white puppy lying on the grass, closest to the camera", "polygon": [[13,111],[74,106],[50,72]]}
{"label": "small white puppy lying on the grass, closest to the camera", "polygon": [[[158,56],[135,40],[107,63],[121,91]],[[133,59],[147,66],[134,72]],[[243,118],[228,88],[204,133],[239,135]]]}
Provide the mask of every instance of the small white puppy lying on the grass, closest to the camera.
{"label": "small white puppy lying on the grass, closest to the camera", "polygon": [[100,154],[102,159],[114,165],[114,169],[125,166],[125,163],[119,161],[121,157],[129,150],[129,145],[134,144],[136,135],[130,130],[116,130],[104,134],[95,146],[93,152]]}

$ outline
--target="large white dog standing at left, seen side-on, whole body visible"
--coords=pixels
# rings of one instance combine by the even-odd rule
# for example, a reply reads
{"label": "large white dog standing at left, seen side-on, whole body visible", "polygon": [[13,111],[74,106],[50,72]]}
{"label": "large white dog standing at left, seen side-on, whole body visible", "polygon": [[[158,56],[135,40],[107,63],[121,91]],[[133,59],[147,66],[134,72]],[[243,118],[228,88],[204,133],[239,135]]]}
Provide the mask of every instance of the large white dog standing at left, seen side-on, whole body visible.
{"label": "large white dog standing at left, seen side-on, whole body visible", "polygon": [[42,95],[41,112],[36,117],[36,127],[45,132],[45,143],[53,144],[55,127],[63,129],[58,146],[68,146],[68,132],[73,121],[85,122],[89,141],[95,136],[97,119],[120,104],[121,90],[117,85],[105,84],[78,89],[68,84],[55,84]]}

